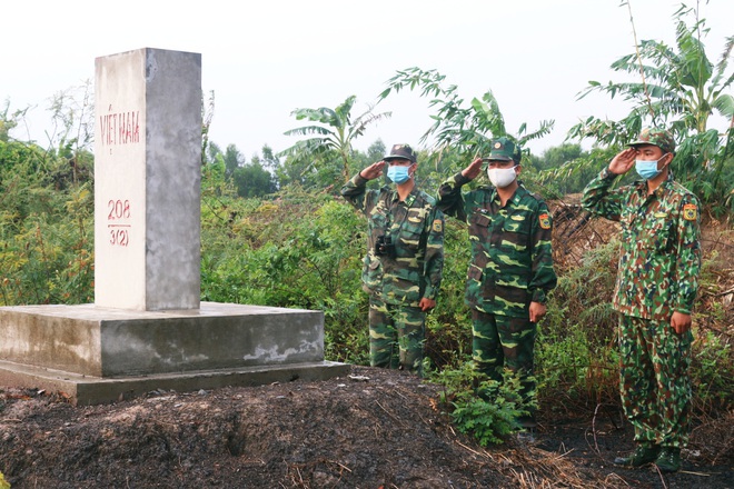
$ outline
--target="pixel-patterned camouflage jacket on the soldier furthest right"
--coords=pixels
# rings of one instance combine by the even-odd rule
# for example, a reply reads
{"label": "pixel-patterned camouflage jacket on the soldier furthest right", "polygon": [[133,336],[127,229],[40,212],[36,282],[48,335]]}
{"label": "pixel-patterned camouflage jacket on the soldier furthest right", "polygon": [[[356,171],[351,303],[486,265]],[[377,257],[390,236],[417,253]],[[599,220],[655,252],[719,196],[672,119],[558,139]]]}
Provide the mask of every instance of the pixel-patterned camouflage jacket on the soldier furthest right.
{"label": "pixel-patterned camouflage jacket on the soldier furthest right", "polygon": [[690,315],[701,268],[698,199],[672,176],[651,196],[645,181],[611,190],[615,178],[604,169],[582,199],[584,209],[622,224],[614,308],[658,321]]}

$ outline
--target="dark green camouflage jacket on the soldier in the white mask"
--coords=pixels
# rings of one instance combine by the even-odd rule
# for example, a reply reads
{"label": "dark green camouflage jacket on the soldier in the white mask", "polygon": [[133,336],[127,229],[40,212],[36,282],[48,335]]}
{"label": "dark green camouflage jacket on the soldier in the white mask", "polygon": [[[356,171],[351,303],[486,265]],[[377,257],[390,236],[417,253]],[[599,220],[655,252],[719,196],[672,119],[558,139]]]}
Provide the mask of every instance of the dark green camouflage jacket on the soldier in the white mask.
{"label": "dark green camouflage jacket on the soldier in the white mask", "polygon": [[557,282],[548,208],[522,184],[500,207],[494,187],[462,194],[468,182],[462,173],[450,177],[438,189],[437,204],[469,224],[466,303],[488,313],[527,317],[530,301],[545,303]]}

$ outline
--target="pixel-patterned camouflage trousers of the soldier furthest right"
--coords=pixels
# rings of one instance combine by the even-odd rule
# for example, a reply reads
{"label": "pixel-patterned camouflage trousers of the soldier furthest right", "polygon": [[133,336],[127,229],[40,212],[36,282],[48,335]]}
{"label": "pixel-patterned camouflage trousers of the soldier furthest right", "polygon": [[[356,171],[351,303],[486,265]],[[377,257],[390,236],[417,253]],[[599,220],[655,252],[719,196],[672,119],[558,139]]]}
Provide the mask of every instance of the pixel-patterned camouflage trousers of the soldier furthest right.
{"label": "pixel-patterned camouflage trousers of the soldier furthest right", "polygon": [[685,447],[691,412],[691,342],[665,321],[619,319],[619,391],[635,441]]}

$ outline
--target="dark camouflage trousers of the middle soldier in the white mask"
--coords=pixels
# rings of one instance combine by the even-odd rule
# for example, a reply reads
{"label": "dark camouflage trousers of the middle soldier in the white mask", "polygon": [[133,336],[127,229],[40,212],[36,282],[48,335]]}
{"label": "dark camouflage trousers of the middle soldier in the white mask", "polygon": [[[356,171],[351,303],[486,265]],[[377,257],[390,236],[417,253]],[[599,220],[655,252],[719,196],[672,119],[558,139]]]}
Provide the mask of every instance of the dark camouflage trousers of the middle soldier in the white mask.
{"label": "dark camouflage trousers of the middle soldier in the white mask", "polygon": [[537,325],[529,318],[513,318],[472,310],[472,357],[476,369],[498,382],[505,368],[520,379],[520,395],[527,403],[535,399],[533,377]]}

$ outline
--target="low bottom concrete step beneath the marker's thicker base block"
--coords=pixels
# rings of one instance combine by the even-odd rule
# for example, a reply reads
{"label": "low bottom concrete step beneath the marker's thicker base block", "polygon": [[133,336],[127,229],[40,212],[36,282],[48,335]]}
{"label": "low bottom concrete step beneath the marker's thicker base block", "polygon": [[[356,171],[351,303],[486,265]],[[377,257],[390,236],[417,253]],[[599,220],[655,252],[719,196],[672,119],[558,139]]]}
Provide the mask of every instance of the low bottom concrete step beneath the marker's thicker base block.
{"label": "low bottom concrete step beneath the marker's thicker base block", "polygon": [[351,366],[330,361],[248,367],[186,373],[102,379],[0,361],[0,386],[46,389],[68,396],[76,406],[117,402],[153,390],[187,392],[220,387],[262,386],[294,380],[325,380],[349,373]]}

